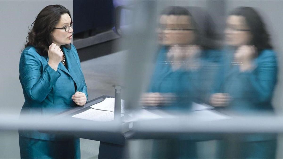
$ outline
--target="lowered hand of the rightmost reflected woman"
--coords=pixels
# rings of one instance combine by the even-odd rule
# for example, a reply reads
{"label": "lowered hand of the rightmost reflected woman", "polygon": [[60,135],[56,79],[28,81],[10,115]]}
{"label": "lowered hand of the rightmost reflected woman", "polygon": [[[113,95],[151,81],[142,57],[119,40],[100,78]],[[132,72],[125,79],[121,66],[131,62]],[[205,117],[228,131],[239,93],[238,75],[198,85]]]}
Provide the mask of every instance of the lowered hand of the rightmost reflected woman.
{"label": "lowered hand of the rightmost reflected woman", "polygon": [[215,93],[210,97],[210,104],[214,107],[228,106],[231,101],[231,96],[228,93]]}

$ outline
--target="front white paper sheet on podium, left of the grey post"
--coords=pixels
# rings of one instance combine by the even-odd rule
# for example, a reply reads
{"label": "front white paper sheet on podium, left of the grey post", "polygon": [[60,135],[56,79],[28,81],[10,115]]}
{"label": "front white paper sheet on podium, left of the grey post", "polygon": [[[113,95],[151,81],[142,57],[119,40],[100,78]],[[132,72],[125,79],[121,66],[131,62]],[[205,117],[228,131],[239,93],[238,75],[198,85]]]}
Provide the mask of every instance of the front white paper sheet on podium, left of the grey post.
{"label": "front white paper sheet on podium, left of the grey post", "polygon": [[[121,114],[121,116],[123,116],[123,114]],[[91,108],[82,113],[73,115],[72,117],[93,121],[112,121],[114,120],[114,113],[111,111],[102,111]]]}

